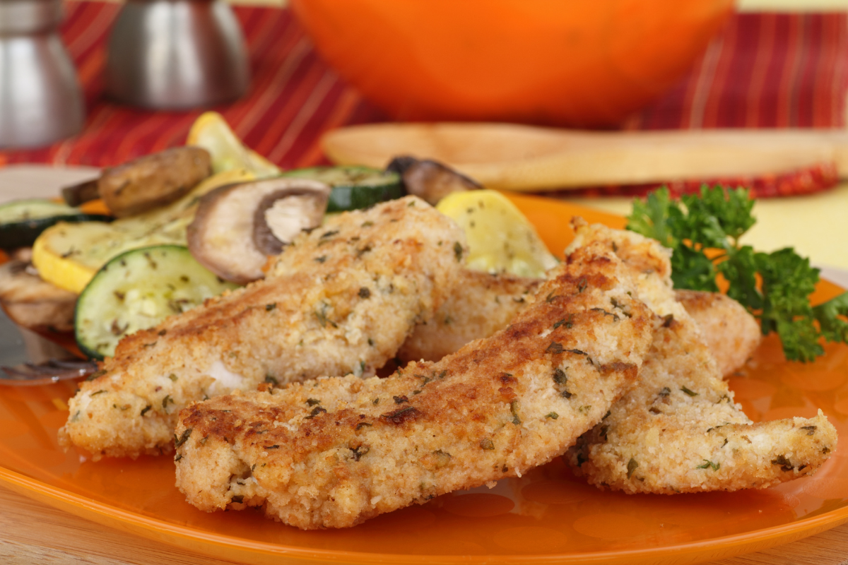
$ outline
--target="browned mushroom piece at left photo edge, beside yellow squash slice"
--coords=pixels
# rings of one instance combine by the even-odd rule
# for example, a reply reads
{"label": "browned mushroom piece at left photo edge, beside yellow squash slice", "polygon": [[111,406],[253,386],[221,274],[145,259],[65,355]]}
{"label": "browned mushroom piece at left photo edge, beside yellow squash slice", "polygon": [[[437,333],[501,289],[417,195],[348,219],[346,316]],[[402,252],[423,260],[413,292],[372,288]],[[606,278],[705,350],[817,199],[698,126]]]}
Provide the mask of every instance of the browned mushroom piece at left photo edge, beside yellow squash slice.
{"label": "browned mushroom piece at left photo edge, beside yellow squash slice", "polygon": [[76,295],[41,279],[30,263],[0,265],[0,305],[15,324],[30,330],[74,329]]}

